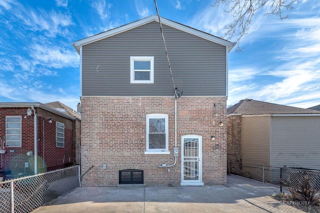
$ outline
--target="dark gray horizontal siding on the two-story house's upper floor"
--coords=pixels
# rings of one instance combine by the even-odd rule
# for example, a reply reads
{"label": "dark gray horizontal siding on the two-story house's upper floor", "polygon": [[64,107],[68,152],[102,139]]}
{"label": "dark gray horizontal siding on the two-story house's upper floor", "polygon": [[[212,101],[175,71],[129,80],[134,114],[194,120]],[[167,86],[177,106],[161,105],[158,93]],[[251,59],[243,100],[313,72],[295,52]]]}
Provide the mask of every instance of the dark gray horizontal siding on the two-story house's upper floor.
{"label": "dark gray horizontal siding on the two-story house's upper floor", "polygon": [[[163,26],[175,87],[184,96],[226,95],[226,47]],[[154,83],[130,84],[130,56],[154,56]],[[82,96],[173,96],[159,23],[82,47]]]}

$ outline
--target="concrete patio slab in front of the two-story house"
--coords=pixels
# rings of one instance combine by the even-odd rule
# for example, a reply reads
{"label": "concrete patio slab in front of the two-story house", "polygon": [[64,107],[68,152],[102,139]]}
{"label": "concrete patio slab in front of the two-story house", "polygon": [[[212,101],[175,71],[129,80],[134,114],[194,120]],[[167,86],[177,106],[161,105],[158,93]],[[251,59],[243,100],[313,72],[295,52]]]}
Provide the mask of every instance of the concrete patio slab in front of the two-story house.
{"label": "concrete patio slab in front of the two-story house", "polygon": [[82,187],[33,213],[285,213],[299,212],[270,198],[277,187],[228,176],[227,186]]}

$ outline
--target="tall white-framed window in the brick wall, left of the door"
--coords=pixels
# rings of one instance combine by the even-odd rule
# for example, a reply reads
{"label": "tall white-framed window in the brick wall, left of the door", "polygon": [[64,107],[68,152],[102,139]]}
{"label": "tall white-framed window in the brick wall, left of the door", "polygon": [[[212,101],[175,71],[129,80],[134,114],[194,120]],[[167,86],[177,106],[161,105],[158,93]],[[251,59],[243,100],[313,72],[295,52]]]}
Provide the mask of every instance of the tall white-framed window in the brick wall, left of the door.
{"label": "tall white-framed window in the brick wall, left of the door", "polygon": [[168,115],[146,115],[146,152],[144,154],[170,154]]}

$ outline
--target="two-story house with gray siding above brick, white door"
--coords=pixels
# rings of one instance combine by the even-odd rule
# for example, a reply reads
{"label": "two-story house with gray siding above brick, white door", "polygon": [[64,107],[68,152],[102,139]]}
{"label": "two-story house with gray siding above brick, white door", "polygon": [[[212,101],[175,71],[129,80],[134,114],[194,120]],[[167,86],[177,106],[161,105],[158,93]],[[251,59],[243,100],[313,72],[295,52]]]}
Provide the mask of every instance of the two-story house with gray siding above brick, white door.
{"label": "two-story house with gray siding above brick, white door", "polygon": [[160,20],[172,76],[156,15],[73,43],[82,186],[226,184],[223,124],[234,43]]}

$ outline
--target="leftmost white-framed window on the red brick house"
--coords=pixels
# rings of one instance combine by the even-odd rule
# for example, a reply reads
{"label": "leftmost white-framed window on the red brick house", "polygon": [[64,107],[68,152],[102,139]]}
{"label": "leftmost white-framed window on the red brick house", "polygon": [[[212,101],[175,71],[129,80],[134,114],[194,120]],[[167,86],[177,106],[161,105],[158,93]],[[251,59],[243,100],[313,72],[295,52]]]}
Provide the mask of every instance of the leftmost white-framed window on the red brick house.
{"label": "leftmost white-framed window on the red brick house", "polygon": [[5,116],[5,146],[21,147],[21,116]]}

